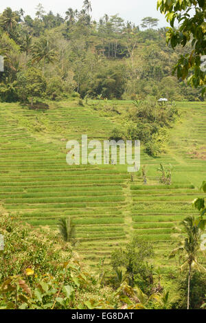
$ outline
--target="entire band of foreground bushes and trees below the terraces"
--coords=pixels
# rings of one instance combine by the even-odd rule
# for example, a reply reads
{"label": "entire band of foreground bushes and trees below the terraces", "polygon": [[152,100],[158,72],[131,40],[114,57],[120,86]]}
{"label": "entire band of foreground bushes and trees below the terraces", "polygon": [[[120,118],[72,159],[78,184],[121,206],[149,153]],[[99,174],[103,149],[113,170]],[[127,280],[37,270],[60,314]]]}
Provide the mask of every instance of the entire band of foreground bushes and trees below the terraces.
{"label": "entire band of foreground bushes and trees below the terraces", "polygon": [[[179,247],[170,254],[171,258],[178,250],[183,252],[179,254],[181,272],[169,269],[162,278],[163,268],[152,265],[152,245],[137,236],[125,249],[113,252],[113,270],[104,269],[104,262],[100,262],[94,274],[56,232],[21,225],[19,219],[5,214],[3,209],[0,215],[0,234],[5,240],[4,250],[0,251],[0,309],[185,309],[186,304],[192,309],[205,307],[205,268],[196,258],[201,229],[195,224],[198,219],[192,216],[181,223],[187,229],[179,236],[183,244],[179,241]],[[188,249],[191,234],[196,238],[196,251],[194,247]],[[196,267],[189,270],[189,279],[191,259]]]}

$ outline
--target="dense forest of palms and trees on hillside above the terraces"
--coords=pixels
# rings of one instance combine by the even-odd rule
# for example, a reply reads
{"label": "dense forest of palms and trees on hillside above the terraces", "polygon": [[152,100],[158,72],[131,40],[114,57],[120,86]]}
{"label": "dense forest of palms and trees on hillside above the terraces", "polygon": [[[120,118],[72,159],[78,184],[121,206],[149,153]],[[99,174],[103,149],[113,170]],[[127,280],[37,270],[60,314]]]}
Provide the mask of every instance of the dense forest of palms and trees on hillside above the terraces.
{"label": "dense forest of palms and trees on hillside above the terraces", "polygon": [[141,26],[118,15],[91,19],[82,10],[59,14],[36,8],[36,18],[6,8],[0,17],[2,102],[71,96],[112,99],[168,98],[202,100],[201,89],[187,87],[172,76],[180,54],[190,52],[165,43],[166,28],[146,17]]}

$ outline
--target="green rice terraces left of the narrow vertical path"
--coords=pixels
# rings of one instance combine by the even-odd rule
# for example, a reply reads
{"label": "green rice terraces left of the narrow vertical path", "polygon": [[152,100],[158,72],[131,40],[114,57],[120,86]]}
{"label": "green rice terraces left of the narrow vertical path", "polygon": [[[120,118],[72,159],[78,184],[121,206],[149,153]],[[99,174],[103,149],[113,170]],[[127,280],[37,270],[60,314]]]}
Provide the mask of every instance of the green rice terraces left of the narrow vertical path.
{"label": "green rice terraces left of the narrow vertical path", "polygon": [[95,241],[100,249],[124,241],[128,173],[115,166],[68,166],[61,141],[82,133],[89,140],[107,138],[110,120],[72,102],[45,113],[1,104],[0,120],[0,199],[7,210],[32,225],[52,227],[60,216],[73,216],[82,244]]}

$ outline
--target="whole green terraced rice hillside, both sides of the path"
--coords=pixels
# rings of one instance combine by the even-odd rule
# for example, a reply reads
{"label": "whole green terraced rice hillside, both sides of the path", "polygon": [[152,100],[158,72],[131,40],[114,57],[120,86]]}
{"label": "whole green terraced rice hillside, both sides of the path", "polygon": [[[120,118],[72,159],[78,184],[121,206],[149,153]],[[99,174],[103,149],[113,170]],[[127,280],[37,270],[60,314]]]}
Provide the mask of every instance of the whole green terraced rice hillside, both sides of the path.
{"label": "whole green terraced rice hillside, both sides of the path", "polygon": [[[123,114],[131,102],[113,102]],[[98,102],[97,102],[98,104]],[[56,228],[60,216],[72,216],[78,252],[92,265],[133,232],[153,241],[157,262],[168,265],[172,227],[186,214],[196,214],[191,201],[201,196],[206,178],[206,104],[179,104],[181,120],[170,131],[168,153],[141,154],[148,185],[123,166],[68,166],[65,141],[87,133],[89,140],[108,139],[115,118],[78,107],[52,104],[49,111],[30,111],[19,104],[0,104],[0,201],[32,225]],[[118,117],[118,118],[123,118]],[[172,164],[172,186],[159,184],[159,163]]]}

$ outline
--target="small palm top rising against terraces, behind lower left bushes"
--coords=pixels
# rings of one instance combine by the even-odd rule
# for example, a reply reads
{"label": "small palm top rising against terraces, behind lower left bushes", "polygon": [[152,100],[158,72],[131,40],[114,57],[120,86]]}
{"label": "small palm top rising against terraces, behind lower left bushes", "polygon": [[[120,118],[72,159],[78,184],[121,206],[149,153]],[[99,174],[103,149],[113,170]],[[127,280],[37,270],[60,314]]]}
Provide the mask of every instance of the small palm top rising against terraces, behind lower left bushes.
{"label": "small palm top rising against terraces, behind lower left bushes", "polygon": [[63,240],[75,245],[75,225],[73,225],[71,218],[60,219],[58,228]]}

